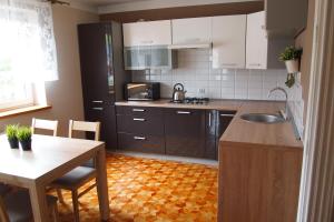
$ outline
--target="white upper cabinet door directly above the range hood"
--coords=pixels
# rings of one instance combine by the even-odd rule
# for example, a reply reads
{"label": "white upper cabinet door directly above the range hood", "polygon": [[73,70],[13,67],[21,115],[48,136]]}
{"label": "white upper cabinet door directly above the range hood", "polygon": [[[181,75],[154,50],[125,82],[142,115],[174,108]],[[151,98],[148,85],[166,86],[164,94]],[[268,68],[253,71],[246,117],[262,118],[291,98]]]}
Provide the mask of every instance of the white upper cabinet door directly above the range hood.
{"label": "white upper cabinet door directly above the range hood", "polygon": [[173,44],[212,41],[212,18],[175,19],[171,28]]}

